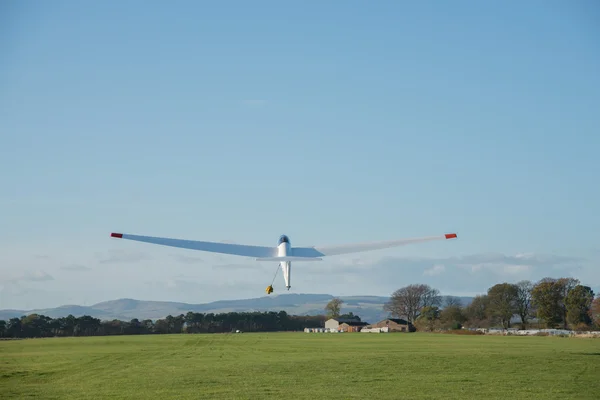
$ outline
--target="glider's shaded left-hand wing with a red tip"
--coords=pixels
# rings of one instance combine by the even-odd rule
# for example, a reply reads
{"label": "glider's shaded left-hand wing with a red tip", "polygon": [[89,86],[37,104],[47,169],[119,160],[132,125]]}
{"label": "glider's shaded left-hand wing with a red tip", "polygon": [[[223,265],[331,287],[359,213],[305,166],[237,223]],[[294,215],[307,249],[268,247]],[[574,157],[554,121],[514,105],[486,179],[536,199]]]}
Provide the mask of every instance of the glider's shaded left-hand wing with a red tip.
{"label": "glider's shaded left-hand wing with a red tip", "polygon": [[153,236],[130,235],[127,233],[111,233],[111,237],[134,240],[162,246],[179,247],[182,249],[208,251],[211,253],[231,254],[235,256],[268,258],[277,256],[276,247],[251,246],[245,244],[201,242],[197,240],[171,239]]}

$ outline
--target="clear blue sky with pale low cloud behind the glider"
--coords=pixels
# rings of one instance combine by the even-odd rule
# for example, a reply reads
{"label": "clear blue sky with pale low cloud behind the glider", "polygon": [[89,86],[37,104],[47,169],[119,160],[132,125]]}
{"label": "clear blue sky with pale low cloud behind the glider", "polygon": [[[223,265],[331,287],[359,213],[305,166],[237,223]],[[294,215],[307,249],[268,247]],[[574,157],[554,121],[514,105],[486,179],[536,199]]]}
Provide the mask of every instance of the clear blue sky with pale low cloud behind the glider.
{"label": "clear blue sky with pale low cloud behind the glider", "polygon": [[113,231],[457,232],[294,265],[292,291],[469,295],[545,276],[600,290],[593,1],[0,9],[0,308],[258,297],[276,267]]}

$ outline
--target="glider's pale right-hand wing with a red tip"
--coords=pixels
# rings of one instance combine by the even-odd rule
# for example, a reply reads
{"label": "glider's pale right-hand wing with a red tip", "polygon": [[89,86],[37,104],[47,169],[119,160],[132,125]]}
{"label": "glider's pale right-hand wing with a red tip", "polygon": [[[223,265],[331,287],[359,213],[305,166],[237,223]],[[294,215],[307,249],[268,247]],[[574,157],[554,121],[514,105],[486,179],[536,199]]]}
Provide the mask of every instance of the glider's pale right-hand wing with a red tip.
{"label": "glider's pale right-hand wing with a red tip", "polygon": [[427,236],[411,239],[387,240],[382,242],[367,242],[343,244],[337,246],[313,246],[313,247],[294,247],[292,256],[294,257],[324,257],[337,256],[340,254],[359,253],[363,251],[381,250],[390,247],[404,246],[412,243],[429,242],[432,240],[454,239],[456,233],[448,233],[439,236]]}

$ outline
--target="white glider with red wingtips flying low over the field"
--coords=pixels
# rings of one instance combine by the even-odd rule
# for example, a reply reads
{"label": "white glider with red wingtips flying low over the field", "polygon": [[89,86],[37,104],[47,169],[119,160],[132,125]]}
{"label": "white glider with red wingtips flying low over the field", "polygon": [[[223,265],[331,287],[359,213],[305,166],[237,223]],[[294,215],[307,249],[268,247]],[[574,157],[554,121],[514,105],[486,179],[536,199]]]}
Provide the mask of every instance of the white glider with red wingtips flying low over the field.
{"label": "white glider with red wingtips flying low over the field", "polygon": [[[426,236],[419,238],[388,240],[380,242],[353,243],[337,246],[313,246],[313,247],[292,247],[290,239],[286,235],[281,235],[277,241],[277,246],[253,246],[244,244],[203,242],[197,240],[171,239],[153,236],[140,236],[128,233],[111,233],[111,237],[117,239],[134,240],[158,244],[162,246],[179,247],[182,249],[208,251],[211,253],[230,254],[242,257],[252,257],[257,261],[278,262],[285,280],[285,287],[290,290],[290,278],[292,262],[295,261],[321,261],[322,257],[337,256],[340,254],[358,253],[372,250],[386,249],[390,247],[404,246],[412,243],[429,242],[433,240],[444,240],[456,238],[456,233],[447,233],[437,236]],[[277,275],[277,273],[275,273]],[[273,278],[275,281],[275,277]],[[273,292],[273,284],[266,289],[267,294]]]}

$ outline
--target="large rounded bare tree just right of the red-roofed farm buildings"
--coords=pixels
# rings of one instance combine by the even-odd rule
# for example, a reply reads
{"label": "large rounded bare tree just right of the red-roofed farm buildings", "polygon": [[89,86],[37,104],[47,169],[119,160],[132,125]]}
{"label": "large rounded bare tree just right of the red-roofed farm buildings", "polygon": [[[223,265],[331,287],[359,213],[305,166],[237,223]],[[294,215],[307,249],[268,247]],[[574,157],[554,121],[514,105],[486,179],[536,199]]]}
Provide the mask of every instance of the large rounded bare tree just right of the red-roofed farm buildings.
{"label": "large rounded bare tree just right of the red-roofed farm buildings", "polygon": [[385,303],[383,309],[392,316],[405,317],[408,322],[413,323],[423,307],[441,305],[442,298],[439,293],[429,285],[408,285],[392,293],[390,301]]}

